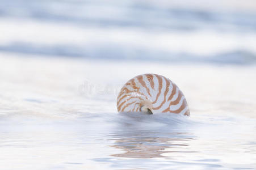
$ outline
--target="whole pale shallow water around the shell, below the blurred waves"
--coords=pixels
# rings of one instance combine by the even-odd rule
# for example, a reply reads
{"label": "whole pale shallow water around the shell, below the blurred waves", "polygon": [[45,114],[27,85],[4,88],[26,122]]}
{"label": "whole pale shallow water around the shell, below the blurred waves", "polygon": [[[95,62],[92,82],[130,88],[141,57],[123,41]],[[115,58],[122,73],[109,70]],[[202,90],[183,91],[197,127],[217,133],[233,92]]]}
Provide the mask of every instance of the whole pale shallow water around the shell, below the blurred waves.
{"label": "whole pale shallow water around the shell, below the blurred waves", "polygon": [[[255,66],[0,61],[5,169],[256,168]],[[117,113],[116,90],[151,71],[181,88],[191,117]]]}

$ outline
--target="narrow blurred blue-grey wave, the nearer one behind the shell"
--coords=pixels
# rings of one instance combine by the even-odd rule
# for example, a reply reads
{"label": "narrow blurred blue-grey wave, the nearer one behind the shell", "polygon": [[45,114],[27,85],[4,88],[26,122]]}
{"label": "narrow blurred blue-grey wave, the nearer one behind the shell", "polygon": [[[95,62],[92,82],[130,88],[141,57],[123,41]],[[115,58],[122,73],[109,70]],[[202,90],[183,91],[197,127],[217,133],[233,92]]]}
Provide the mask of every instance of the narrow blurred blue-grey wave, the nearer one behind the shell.
{"label": "narrow blurred blue-grey wave, the nearer one behind the shell", "polygon": [[103,44],[96,46],[75,45],[32,45],[25,42],[15,42],[10,45],[0,45],[0,52],[32,54],[44,57],[79,57],[87,59],[112,59],[159,61],[159,62],[182,62],[182,63],[217,63],[249,65],[256,63],[256,54],[248,50],[234,49],[217,54],[199,56],[192,53],[166,52],[163,50],[143,49],[136,46],[117,44]]}

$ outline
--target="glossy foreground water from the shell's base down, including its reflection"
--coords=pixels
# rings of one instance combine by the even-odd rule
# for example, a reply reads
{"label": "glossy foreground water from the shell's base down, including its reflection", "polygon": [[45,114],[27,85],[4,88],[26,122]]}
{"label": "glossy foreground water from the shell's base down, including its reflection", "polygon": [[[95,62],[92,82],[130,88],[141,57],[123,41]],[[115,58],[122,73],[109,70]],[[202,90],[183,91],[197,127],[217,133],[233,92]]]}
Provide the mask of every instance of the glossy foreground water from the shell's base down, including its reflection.
{"label": "glossy foreground water from the shell's base down, including its reflection", "polygon": [[256,120],[99,113],[1,119],[5,169],[254,169]]}

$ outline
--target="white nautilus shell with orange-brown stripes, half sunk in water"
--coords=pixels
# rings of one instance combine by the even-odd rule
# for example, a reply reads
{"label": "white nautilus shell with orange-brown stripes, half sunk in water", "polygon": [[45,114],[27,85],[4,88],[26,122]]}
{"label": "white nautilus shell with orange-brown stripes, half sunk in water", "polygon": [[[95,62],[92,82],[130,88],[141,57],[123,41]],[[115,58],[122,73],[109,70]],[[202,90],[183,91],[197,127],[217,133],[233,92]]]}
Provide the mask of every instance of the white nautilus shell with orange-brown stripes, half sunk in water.
{"label": "white nautilus shell with orange-brown stripes, half sunk in water", "polygon": [[117,97],[118,112],[175,113],[190,116],[177,85],[157,74],[142,74],[124,84]]}

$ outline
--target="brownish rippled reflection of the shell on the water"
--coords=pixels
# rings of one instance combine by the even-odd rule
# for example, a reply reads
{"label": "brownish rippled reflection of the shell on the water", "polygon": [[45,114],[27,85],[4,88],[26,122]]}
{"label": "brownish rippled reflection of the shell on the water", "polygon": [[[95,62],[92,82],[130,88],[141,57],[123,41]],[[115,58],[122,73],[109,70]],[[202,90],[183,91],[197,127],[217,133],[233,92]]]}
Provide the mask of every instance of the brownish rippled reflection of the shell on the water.
{"label": "brownish rippled reflection of the shell on the water", "polygon": [[[152,135],[153,134],[153,135]],[[141,132],[137,135],[116,136],[115,145],[111,147],[125,151],[121,154],[111,156],[123,158],[175,158],[177,154],[196,152],[190,148],[191,140],[194,140],[190,133],[170,133],[164,136],[154,137],[152,131]]]}

